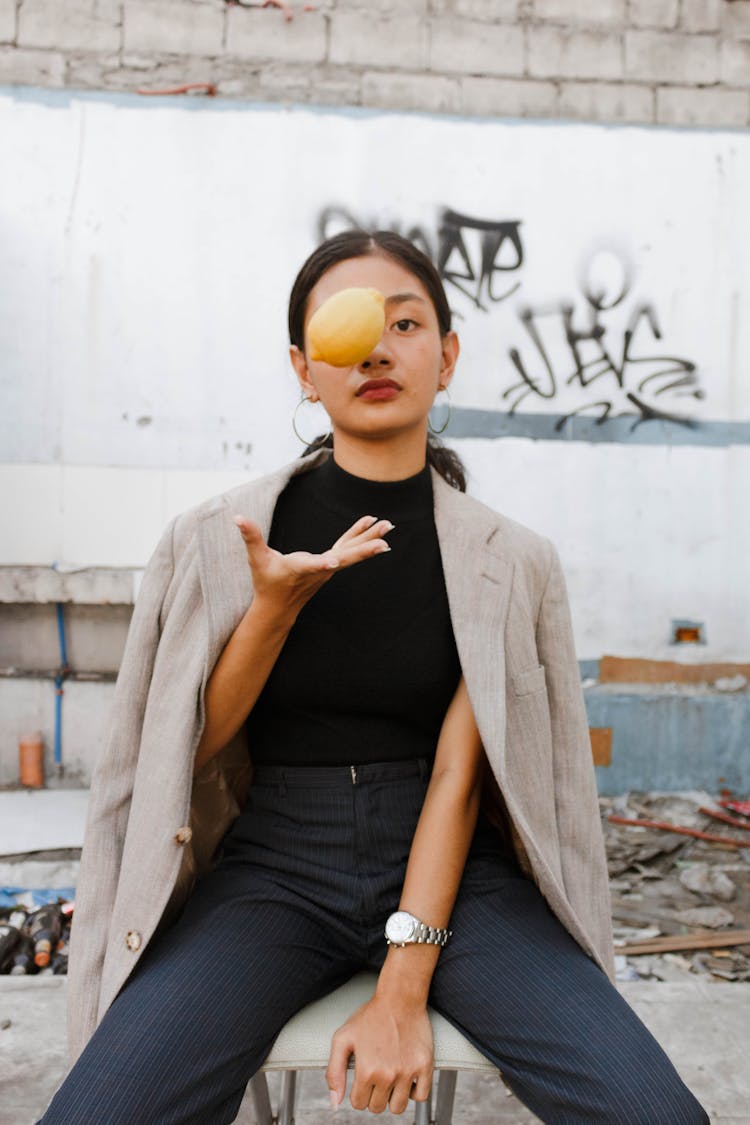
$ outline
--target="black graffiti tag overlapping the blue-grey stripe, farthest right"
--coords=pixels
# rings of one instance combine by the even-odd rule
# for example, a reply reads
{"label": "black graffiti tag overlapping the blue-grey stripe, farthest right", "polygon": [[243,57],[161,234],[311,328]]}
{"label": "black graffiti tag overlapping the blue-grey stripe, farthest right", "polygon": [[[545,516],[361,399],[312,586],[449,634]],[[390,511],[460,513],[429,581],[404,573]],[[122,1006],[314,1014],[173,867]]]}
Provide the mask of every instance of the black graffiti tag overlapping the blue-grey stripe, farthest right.
{"label": "black graffiti tag overlapping the blue-grey stripe, farthest right", "polygon": [[518,310],[518,320],[535,352],[535,363],[532,371],[518,348],[509,350],[510,362],[521,377],[501,395],[509,413],[532,395],[554,399],[564,387],[585,390],[596,384],[597,398],[587,397],[580,406],[568,410],[555,429],[562,429],[567,418],[584,412],[598,412],[598,422],[613,414],[636,413],[634,425],[656,418],[690,424],[684,415],[665,408],[661,396],[703,398],[696,366],[689,359],[654,349],[653,342],[661,340],[661,328],[653,305],[636,303],[621,332],[612,323],[605,323],[607,314],[629,296],[625,268],[622,267],[622,281],[614,295],[607,297],[604,288],[587,281],[581,282],[581,291],[587,305],[584,314],[587,323],[582,325],[576,324],[576,307],[570,303]]}

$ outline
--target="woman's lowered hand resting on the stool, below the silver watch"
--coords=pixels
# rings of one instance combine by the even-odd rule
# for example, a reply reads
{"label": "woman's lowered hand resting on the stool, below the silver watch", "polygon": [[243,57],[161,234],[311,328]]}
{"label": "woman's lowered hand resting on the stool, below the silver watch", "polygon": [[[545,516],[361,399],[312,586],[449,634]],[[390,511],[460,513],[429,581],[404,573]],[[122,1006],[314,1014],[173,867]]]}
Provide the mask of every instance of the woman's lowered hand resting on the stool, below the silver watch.
{"label": "woman's lowered hand resting on the stool, below the silver watch", "polygon": [[354,1109],[403,1114],[409,1098],[426,1101],[433,1070],[432,1027],[424,1005],[373,996],[334,1034],[326,1070],[331,1104],[346,1094],[346,1064],[354,1055],[350,1101]]}

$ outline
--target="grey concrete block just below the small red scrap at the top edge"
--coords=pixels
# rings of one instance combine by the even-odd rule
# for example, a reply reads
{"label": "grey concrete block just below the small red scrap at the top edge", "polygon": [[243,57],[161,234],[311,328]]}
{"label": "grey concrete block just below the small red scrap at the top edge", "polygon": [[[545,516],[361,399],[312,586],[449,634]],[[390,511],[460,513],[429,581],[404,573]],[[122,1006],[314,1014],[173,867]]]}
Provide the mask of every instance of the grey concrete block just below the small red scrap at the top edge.
{"label": "grey concrete block just below the small red scrap at the top edge", "polygon": [[229,8],[226,52],[237,58],[281,62],[323,62],[326,53],[325,16],[300,11],[292,20],[265,9]]}

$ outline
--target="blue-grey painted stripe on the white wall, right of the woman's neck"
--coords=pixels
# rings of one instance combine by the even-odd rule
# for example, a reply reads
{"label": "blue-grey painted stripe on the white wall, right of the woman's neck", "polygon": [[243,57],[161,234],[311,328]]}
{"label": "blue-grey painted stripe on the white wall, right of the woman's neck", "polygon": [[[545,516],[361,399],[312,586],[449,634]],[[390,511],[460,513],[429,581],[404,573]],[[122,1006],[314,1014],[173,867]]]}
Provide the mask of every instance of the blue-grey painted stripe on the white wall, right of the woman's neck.
{"label": "blue-grey painted stripe on the white wall, right of the woman's neck", "polygon": [[[435,423],[442,421],[435,411]],[[451,438],[532,438],[535,441],[620,442],[631,446],[748,446],[750,422],[642,418],[620,415],[599,421],[577,414],[508,414],[454,406],[446,430]]]}

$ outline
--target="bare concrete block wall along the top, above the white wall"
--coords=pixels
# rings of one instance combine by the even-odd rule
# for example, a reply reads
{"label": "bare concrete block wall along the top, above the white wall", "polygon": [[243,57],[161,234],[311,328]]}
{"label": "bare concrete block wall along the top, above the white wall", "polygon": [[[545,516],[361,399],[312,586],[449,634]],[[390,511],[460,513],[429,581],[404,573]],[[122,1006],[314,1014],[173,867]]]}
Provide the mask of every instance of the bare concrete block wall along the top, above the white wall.
{"label": "bare concrete block wall along the top, above the white wall", "polygon": [[15,83],[747,126],[750,0],[0,0]]}

